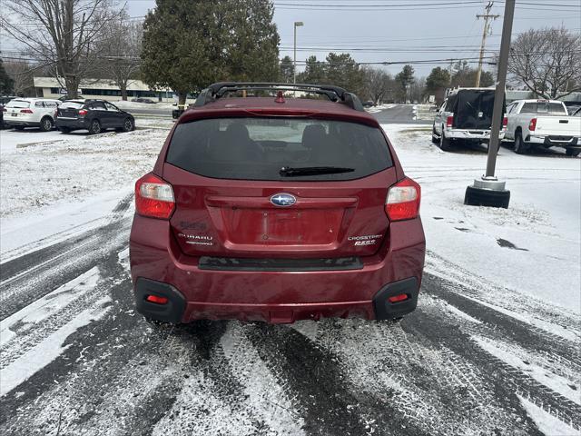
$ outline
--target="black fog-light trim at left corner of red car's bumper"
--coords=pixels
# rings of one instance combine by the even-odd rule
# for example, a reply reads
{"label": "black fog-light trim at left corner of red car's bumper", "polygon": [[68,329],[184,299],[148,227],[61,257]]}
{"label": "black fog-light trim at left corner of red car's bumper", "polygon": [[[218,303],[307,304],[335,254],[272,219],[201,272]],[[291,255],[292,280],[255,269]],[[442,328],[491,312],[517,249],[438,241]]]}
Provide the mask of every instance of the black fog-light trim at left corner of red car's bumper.
{"label": "black fog-light trim at left corner of red car's bumper", "polygon": [[[148,302],[145,299],[148,295],[165,297],[168,302],[158,304]],[[140,277],[135,283],[135,307],[144,317],[156,321],[178,323],[182,322],[185,311],[185,298],[171,284],[156,282]]]}

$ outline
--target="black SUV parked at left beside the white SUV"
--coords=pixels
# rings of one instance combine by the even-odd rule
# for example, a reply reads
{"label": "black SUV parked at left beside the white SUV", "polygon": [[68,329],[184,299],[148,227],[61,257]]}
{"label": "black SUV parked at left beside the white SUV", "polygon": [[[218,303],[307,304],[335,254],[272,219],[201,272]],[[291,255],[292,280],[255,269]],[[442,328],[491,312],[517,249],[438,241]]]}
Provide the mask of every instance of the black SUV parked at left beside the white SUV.
{"label": "black SUV parked at left beside the white SUV", "polygon": [[131,132],[135,119],[105,100],[68,100],[58,108],[56,128],[65,134],[83,129],[89,134],[100,134],[107,129]]}

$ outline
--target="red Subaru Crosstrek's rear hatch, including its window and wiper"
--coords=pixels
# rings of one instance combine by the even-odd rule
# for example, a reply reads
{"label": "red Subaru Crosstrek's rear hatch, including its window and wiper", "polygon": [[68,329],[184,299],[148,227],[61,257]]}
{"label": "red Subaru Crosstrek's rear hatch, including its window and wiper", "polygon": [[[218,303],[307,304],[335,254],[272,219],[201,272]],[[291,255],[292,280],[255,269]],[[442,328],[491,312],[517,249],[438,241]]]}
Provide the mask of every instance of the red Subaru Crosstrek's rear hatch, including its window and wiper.
{"label": "red Subaru Crosstrek's rear hatch, including its window and wiper", "polygon": [[376,253],[396,183],[379,128],[301,117],[179,124],[162,176],[183,253],[247,258]]}

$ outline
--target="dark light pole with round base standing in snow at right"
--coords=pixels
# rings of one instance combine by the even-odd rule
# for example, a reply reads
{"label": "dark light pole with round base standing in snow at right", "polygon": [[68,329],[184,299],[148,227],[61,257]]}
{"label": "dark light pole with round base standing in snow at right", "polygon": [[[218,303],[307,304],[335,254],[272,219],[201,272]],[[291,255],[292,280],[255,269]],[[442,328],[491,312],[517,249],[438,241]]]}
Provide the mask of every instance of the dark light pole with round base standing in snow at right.
{"label": "dark light pole with round base standing in snow at right", "polygon": [[505,87],[507,85],[508,54],[510,52],[510,37],[512,22],[515,15],[515,0],[505,3],[505,16],[502,25],[502,39],[498,56],[497,88],[494,94],[492,110],[492,126],[488,142],[487,172],[480,179],[475,179],[472,186],[466,189],[464,203],[477,206],[508,207],[510,191],[505,189],[505,182],[499,182],[494,175],[497,165],[498,134],[502,124],[503,105],[505,101]]}

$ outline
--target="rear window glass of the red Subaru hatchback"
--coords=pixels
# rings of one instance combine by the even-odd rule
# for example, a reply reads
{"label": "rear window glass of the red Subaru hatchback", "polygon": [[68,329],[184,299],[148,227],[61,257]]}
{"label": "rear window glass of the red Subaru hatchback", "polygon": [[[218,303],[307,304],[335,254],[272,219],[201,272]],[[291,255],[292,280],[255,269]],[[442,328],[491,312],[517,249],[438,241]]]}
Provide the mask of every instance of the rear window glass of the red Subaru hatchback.
{"label": "rear window glass of the red Subaru hatchback", "polygon": [[[353,180],[392,166],[380,130],[305,118],[220,118],[179,124],[167,162],[206,177],[242,180]],[[282,167],[352,168],[281,175]]]}

